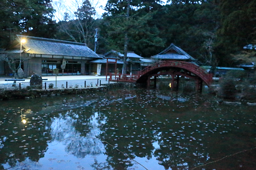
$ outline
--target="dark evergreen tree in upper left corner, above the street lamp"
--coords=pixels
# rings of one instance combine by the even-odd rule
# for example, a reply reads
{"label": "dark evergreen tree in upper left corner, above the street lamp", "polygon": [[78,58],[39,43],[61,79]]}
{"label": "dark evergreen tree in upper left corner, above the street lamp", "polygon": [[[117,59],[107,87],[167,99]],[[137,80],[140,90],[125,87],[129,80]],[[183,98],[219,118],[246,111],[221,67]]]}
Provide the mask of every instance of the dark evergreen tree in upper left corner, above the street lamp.
{"label": "dark evergreen tree in upper left corner, above the street lamp", "polygon": [[52,37],[55,33],[53,11],[51,0],[0,0],[1,47],[7,47],[11,37],[20,33]]}

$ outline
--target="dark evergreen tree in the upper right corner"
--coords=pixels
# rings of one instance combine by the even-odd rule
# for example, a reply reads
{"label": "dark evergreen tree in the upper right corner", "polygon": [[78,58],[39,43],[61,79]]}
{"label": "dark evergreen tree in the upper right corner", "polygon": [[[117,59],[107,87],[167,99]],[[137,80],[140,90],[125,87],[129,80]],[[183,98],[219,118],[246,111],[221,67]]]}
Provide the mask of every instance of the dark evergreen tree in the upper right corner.
{"label": "dark evergreen tree in the upper right corner", "polygon": [[220,0],[221,28],[218,31],[216,52],[220,64],[230,66],[232,55],[255,40],[256,1]]}

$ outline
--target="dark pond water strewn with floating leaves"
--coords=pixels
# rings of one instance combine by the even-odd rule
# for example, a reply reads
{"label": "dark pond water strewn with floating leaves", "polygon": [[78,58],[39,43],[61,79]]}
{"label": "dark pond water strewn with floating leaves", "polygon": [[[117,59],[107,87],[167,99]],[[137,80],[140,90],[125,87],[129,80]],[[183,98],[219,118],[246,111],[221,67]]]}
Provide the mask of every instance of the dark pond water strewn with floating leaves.
{"label": "dark pond water strewn with floating leaves", "polygon": [[0,169],[255,169],[256,108],[190,91],[1,101]]}

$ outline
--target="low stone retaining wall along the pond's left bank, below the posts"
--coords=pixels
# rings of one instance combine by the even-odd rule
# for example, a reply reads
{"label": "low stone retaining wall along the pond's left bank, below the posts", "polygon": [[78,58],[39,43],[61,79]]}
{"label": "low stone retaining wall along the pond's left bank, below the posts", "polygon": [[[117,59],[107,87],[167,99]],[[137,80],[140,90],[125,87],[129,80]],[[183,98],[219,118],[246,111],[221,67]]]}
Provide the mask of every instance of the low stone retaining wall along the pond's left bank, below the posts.
{"label": "low stone retaining wall along the pond's left bank, below the posts", "polygon": [[12,89],[0,91],[0,100],[10,99],[33,99],[40,98],[41,96],[52,95],[66,95],[66,94],[79,94],[79,93],[92,93],[96,91],[106,91],[110,88],[127,87],[129,83],[112,83],[102,84],[99,87],[87,88],[53,88],[53,89]]}

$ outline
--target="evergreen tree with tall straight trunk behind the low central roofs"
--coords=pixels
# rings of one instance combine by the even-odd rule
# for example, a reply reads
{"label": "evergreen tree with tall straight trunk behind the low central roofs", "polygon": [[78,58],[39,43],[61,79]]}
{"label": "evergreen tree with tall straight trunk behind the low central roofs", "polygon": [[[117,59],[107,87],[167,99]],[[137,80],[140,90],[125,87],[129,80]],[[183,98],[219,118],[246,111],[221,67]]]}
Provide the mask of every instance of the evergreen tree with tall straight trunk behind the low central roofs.
{"label": "evergreen tree with tall straight trunk behind the low central roofs", "polygon": [[130,11],[127,13],[127,1],[108,1],[105,7],[108,13],[104,14],[101,26],[101,34],[108,42],[108,50],[125,53],[125,35],[129,42],[127,51],[143,57],[150,57],[155,48],[163,47],[158,28],[152,22],[154,11],[161,7],[159,3],[161,1],[131,1]]}

